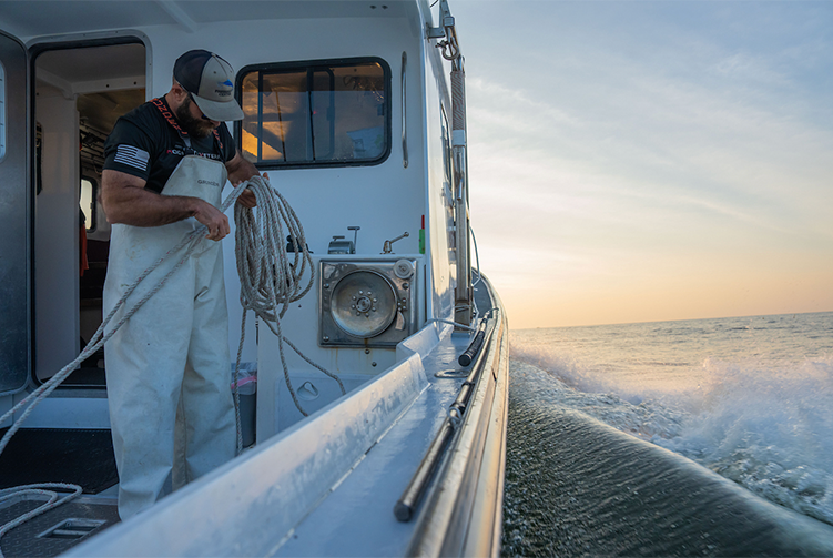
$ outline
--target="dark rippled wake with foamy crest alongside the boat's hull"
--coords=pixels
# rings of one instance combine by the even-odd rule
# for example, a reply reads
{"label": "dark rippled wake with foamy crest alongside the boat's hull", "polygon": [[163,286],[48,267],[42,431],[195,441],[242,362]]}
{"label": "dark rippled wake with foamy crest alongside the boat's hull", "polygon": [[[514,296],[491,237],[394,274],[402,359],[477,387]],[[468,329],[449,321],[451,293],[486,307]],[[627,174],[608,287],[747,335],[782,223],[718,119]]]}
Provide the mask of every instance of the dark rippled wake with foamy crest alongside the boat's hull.
{"label": "dark rippled wake with foamy crest alongside the boat's hull", "polygon": [[[755,466],[742,464],[768,459],[769,452],[751,443],[753,430],[735,440],[732,425],[749,423],[729,419],[739,407],[711,407],[712,423],[723,425],[719,435],[718,426],[656,399],[634,404],[581,393],[565,382],[581,378],[559,379],[559,372],[517,359],[511,366],[504,556],[833,555],[833,527],[732,481],[758,487],[751,480]],[[720,464],[738,459],[742,448],[748,455],[732,461],[740,471],[732,478],[731,467]],[[723,476],[687,454],[712,461],[709,467]],[[718,460],[723,454],[728,460]],[[779,471],[784,479],[799,467],[789,466]],[[788,491],[812,501],[798,479],[793,484]],[[830,494],[826,486],[811,490]]]}

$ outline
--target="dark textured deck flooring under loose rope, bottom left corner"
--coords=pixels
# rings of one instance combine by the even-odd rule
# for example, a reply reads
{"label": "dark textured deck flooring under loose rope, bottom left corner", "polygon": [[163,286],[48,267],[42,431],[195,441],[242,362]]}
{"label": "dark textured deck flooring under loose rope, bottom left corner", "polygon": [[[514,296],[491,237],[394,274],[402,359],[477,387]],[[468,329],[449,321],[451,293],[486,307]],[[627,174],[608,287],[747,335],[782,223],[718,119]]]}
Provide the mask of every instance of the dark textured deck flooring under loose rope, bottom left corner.
{"label": "dark textured deck flooring under loose rope, bottom left corner", "polygon": [[[41,504],[43,504],[42,500],[24,500],[0,507],[0,525],[37,508]],[[94,528],[88,527],[89,532],[79,537],[43,536],[47,531],[67,520],[78,523],[79,519],[94,519],[103,523]],[[119,511],[114,500],[110,504],[72,500],[13,528],[0,539],[0,546],[6,558],[58,556],[118,523]]]}

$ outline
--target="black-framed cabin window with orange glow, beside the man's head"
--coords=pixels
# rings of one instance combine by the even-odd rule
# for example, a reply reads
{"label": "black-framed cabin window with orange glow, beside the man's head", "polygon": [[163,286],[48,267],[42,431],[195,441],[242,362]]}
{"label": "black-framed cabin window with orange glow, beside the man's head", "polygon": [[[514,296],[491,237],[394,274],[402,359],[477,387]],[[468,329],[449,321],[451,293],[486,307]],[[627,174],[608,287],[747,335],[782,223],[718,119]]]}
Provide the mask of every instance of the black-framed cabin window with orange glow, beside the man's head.
{"label": "black-framed cabin window with orange glow, beside the man's head", "polygon": [[390,70],[380,59],[244,68],[243,155],[261,168],[347,166],[390,152]]}

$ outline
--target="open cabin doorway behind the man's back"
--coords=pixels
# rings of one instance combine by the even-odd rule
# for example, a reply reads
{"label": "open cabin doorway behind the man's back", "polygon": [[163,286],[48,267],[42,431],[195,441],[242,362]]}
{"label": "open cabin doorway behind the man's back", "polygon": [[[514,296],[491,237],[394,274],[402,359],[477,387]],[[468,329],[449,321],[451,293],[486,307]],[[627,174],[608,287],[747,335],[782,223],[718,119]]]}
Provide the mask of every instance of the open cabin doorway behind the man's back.
{"label": "open cabin doorway behind the man's back", "polygon": [[[34,379],[78,356],[102,322],[110,225],[99,200],[104,141],[145,101],[141,42],[41,50],[34,72]],[[65,387],[105,386],[103,349]]]}

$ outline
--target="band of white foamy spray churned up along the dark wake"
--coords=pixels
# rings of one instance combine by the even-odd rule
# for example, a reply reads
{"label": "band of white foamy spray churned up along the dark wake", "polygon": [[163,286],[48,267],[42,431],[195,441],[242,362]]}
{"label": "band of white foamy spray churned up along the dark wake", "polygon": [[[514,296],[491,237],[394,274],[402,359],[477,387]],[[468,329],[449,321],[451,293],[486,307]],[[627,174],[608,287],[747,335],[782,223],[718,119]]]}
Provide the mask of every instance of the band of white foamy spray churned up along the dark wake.
{"label": "band of white foamy spray churned up along the dark wake", "polygon": [[511,353],[516,367],[534,365],[561,386],[547,394],[553,405],[581,410],[833,525],[833,358],[789,366],[705,358],[680,388],[680,378],[640,382],[551,347],[512,343]]}

